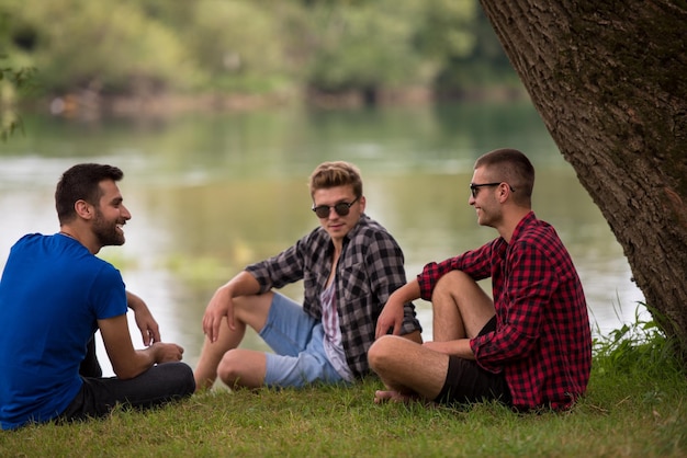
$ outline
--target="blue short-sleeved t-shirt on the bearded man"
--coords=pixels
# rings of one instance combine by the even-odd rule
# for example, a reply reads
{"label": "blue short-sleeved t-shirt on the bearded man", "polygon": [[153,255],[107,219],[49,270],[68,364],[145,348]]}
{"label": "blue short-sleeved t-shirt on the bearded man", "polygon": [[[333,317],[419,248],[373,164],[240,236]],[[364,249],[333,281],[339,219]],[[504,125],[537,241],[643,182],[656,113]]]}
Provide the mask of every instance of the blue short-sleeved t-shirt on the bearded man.
{"label": "blue short-sleeved t-shirt on the bearded man", "polygon": [[58,416],[79,392],[97,320],[126,313],[120,272],[63,234],[24,236],[0,279],[0,426]]}

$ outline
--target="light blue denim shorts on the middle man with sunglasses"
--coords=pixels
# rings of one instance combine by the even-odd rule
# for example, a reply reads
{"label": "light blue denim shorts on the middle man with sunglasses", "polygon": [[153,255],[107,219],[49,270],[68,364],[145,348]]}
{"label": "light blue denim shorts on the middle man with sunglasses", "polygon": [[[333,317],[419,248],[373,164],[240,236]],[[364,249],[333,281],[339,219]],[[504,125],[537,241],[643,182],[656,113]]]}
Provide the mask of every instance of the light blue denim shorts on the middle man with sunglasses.
{"label": "light blue denim shorts on the middle man with sunglasses", "polygon": [[274,351],[267,353],[264,383],[268,387],[303,387],[314,381],[346,382],[324,347],[322,322],[290,298],[274,293],[260,337]]}

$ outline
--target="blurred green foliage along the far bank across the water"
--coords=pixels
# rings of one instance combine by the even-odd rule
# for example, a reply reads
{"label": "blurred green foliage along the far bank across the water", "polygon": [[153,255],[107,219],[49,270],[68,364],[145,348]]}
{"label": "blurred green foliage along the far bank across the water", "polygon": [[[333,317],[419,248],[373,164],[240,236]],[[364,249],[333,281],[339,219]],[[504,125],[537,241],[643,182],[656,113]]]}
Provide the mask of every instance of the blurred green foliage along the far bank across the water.
{"label": "blurred green foliage along the far bank across the water", "polygon": [[517,84],[477,0],[0,0],[0,14],[7,68],[38,68],[38,95]]}

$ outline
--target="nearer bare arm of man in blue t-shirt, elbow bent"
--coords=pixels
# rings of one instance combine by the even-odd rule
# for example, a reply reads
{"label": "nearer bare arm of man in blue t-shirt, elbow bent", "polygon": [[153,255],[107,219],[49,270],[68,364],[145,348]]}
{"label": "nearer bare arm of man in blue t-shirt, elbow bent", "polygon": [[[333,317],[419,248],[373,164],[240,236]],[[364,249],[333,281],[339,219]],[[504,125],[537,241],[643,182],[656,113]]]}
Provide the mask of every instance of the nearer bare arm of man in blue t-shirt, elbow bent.
{"label": "nearer bare arm of man in blue t-shirt, elbow bent", "polygon": [[172,343],[155,342],[145,350],[134,350],[126,314],[98,320],[98,327],[112,369],[121,379],[136,377],[154,364],[181,360],[183,348]]}

